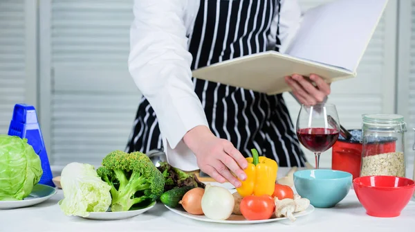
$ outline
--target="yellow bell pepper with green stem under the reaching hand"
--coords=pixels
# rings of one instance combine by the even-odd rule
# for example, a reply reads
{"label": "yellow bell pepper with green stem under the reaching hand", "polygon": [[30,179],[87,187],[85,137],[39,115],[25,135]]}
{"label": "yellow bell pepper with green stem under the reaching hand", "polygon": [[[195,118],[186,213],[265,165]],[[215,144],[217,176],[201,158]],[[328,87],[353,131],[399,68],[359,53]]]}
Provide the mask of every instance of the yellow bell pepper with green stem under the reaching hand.
{"label": "yellow bell pepper with green stem under the reaching hand", "polygon": [[266,157],[259,157],[257,150],[252,149],[252,157],[246,158],[248,168],[245,169],[246,180],[237,188],[241,197],[249,195],[273,195],[277,180],[277,162]]}

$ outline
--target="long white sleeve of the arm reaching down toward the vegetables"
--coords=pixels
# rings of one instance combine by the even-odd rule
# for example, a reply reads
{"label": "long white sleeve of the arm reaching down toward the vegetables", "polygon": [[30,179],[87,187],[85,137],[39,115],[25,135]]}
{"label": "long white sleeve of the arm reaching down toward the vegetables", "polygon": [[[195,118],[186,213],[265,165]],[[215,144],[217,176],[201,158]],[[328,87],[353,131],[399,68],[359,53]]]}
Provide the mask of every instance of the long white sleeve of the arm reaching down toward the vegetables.
{"label": "long white sleeve of the arm reaching down toward the vegetables", "polygon": [[197,125],[208,126],[187,51],[185,18],[196,15],[187,11],[194,10],[191,1],[135,0],[130,30],[129,72],[156,112],[167,161],[183,170],[197,169],[183,136]]}

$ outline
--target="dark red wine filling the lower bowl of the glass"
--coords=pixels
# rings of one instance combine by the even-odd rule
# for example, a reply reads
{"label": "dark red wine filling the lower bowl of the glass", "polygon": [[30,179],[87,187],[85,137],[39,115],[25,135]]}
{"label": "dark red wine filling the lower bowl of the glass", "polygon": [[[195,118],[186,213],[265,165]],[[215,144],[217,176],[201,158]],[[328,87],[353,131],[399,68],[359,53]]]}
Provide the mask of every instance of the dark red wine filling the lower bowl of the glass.
{"label": "dark red wine filling the lower bowl of the glass", "polygon": [[312,152],[325,152],[337,141],[339,131],[331,128],[303,128],[297,130],[298,140]]}

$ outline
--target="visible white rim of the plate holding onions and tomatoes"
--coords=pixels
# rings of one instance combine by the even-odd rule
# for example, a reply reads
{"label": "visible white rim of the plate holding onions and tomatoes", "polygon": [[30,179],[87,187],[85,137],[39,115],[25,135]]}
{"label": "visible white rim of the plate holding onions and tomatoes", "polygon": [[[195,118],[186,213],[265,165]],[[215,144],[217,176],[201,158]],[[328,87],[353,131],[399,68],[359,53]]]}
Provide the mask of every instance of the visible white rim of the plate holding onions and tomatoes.
{"label": "visible white rim of the plate holding onions and tomatoes", "polygon": [[[169,206],[166,206],[169,210],[173,211],[174,213],[177,213],[178,215],[182,215],[187,218],[191,218],[193,220],[199,220],[203,222],[216,222],[216,223],[224,223],[224,224],[258,224],[258,223],[267,223],[267,222],[277,222],[280,220],[288,220],[287,217],[279,217],[279,218],[271,218],[267,220],[246,220],[245,217],[242,215],[230,215],[228,220],[212,220],[206,217],[205,215],[192,215],[190,213],[187,213],[182,208],[170,208]],[[304,215],[308,215],[310,213],[313,213],[314,206],[310,204],[308,208],[305,211],[294,213],[294,217],[301,217]]]}

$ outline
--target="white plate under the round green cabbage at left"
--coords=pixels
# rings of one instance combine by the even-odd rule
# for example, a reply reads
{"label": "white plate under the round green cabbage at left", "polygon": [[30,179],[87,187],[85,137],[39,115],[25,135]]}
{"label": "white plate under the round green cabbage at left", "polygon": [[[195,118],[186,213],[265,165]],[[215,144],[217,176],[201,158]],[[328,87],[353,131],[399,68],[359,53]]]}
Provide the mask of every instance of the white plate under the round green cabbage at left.
{"label": "white plate under the round green cabbage at left", "polygon": [[56,194],[56,188],[37,184],[33,186],[32,193],[21,201],[0,201],[0,209],[23,208],[42,203]]}

